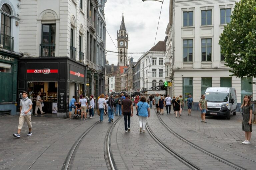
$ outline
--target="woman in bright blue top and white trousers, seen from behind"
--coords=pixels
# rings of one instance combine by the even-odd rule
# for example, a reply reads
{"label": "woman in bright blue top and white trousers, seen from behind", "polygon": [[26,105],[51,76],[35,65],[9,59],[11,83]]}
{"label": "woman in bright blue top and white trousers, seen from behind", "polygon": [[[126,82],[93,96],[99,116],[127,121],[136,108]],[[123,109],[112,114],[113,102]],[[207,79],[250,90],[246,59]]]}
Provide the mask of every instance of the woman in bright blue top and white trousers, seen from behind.
{"label": "woman in bright blue top and white trousers, seen from behind", "polygon": [[139,123],[140,123],[140,132],[143,130],[145,132],[146,120],[147,117],[150,117],[149,105],[146,102],[145,97],[140,98],[140,102],[136,105],[137,112],[139,111]]}

